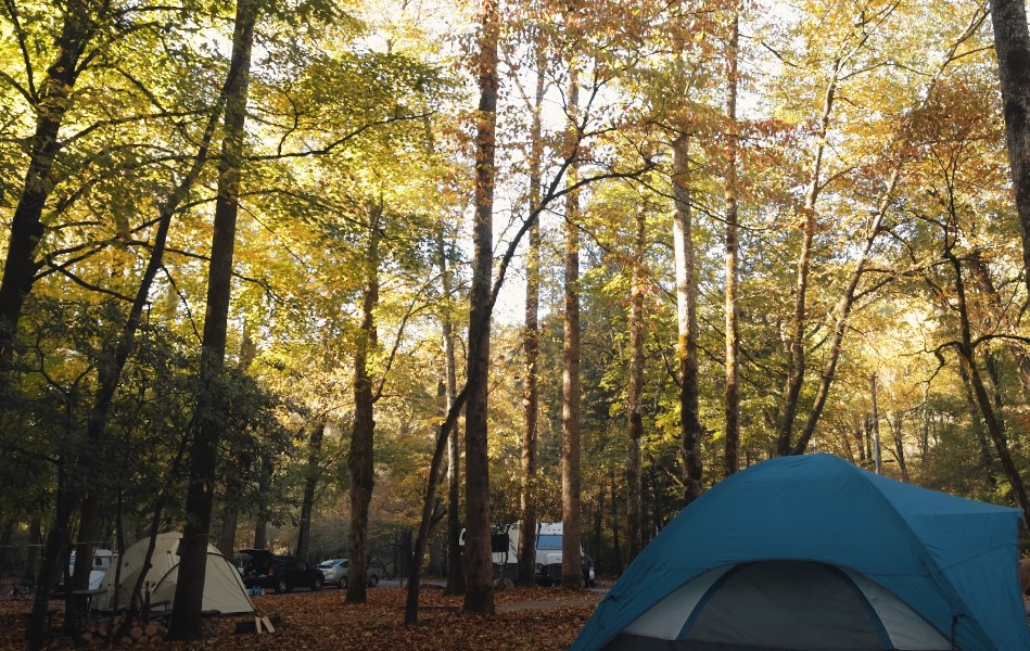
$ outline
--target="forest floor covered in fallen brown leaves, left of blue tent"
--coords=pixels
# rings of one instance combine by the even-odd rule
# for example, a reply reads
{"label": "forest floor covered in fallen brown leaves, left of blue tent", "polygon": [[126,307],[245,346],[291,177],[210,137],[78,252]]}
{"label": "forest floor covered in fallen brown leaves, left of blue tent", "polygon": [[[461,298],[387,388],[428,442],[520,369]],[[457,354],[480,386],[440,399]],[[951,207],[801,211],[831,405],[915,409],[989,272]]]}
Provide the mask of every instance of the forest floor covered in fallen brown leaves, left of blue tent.
{"label": "forest floor covered in fallen brown leaves, left of blue tent", "polygon": [[[64,607],[53,601],[52,633],[47,649],[129,649],[145,646],[156,649],[186,650],[491,650],[541,651],[568,649],[605,590],[572,592],[561,588],[508,588],[494,593],[496,614],[472,615],[460,612],[462,598],[444,595],[437,586],[423,586],[420,592],[419,624],[404,624],[407,590],[396,586],[369,588],[368,603],[348,604],[345,590],[320,592],[296,590],[288,595],[266,592],[252,597],[257,614],[275,625],[272,633],[254,633],[253,616],[224,616],[217,631],[195,642],[164,641],[164,626],[151,624],[124,638],[109,642],[103,639],[107,622],[91,624],[91,640],[63,637]],[[0,599],[0,649],[26,649],[27,600]],[[249,633],[237,633],[238,625],[250,626]]]}

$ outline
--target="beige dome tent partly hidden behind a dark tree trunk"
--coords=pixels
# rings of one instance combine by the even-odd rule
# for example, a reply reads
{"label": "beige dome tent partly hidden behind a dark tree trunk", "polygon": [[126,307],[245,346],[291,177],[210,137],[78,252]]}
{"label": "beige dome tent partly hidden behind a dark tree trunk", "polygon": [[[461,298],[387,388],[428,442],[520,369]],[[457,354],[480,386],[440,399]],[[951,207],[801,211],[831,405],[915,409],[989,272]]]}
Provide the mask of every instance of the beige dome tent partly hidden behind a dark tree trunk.
{"label": "beige dome tent partly hidden behind a dark tree trunk", "polygon": [[[181,538],[182,534],[178,532],[157,534],[151,566],[143,579],[144,593],[140,595],[138,604],[142,605],[144,602],[147,590],[150,592],[150,603],[175,599],[175,586],[179,577],[179,539]],[[129,607],[132,589],[143,570],[143,560],[149,545],[150,538],[143,538],[126,550],[122,557],[120,572],[117,572],[117,589],[114,584],[115,567],[107,571],[100,585],[102,592],[97,597],[97,610],[111,611]],[[116,598],[117,602],[115,602]],[[116,607],[115,603],[117,603]],[[220,611],[224,615],[254,612],[254,604],[246,595],[239,571],[214,545],[207,546],[202,608],[205,611]]]}

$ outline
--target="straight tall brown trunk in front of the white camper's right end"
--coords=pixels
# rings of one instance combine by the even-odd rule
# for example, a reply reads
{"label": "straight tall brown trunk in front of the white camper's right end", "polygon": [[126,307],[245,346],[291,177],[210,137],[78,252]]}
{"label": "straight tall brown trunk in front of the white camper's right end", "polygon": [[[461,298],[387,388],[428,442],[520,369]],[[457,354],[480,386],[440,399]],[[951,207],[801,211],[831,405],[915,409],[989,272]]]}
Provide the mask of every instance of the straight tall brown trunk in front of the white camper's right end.
{"label": "straight tall brown trunk in front of the white camper's right end", "polygon": [[[575,63],[569,69],[569,113],[576,129],[580,79]],[[577,142],[575,139],[573,142]],[[565,306],[562,335],[561,380],[561,585],[583,589],[580,553],[580,193],[578,162],[569,165],[569,193],[565,194]]]}

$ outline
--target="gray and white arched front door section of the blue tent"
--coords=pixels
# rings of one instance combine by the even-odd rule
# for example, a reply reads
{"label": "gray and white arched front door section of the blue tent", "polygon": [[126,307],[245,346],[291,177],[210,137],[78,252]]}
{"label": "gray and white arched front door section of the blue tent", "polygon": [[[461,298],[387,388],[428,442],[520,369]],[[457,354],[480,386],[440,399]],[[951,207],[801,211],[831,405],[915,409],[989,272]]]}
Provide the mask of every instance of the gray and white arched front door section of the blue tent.
{"label": "gray and white arched front door section of the blue tent", "polygon": [[951,643],[877,584],[809,561],[709,571],[627,626],[609,651],[946,651]]}

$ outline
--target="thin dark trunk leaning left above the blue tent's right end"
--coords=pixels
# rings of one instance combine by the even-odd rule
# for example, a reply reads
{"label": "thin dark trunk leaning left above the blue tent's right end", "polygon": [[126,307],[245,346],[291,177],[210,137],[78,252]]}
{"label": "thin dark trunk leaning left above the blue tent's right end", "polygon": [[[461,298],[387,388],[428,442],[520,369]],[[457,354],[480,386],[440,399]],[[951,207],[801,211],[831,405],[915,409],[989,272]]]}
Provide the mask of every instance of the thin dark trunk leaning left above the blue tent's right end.
{"label": "thin dark trunk leaning left above the blue tent's right end", "polygon": [[[980,414],[983,417],[988,434],[990,434],[991,441],[994,444],[994,451],[1001,461],[1002,470],[1005,472],[1005,478],[1008,480],[1009,486],[1012,486],[1013,499],[1016,501],[1016,506],[1022,510],[1022,524],[1027,531],[1030,531],[1030,501],[1027,499],[1027,489],[1022,483],[1022,475],[1020,475],[1019,469],[1016,467],[1013,456],[1008,451],[1005,432],[1002,429],[1001,421],[994,413],[991,397],[988,395],[987,388],[983,386],[983,381],[980,379],[980,371],[977,369],[976,348],[972,343],[972,332],[969,327],[969,311],[966,303],[966,288],[962,277],[962,263],[952,251],[951,245],[945,248],[944,257],[951,263],[952,269],[955,272],[955,298],[958,307],[961,336],[961,341],[957,345],[958,360],[969,376],[969,383],[972,386],[972,395],[976,397],[977,406],[980,408]],[[938,352],[938,355],[940,356],[941,354]]]}

